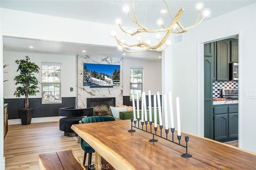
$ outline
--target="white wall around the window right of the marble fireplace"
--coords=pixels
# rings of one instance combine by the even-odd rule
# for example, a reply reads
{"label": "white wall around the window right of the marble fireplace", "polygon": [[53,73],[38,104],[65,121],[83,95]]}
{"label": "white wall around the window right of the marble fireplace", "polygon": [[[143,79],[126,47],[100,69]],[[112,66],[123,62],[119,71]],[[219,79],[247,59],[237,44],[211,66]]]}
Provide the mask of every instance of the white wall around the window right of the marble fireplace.
{"label": "white wall around the window right of the marble fireplace", "polygon": [[[160,59],[159,59],[160,60]],[[124,63],[124,96],[130,96],[130,68],[143,68],[143,91],[148,95],[150,90],[151,95],[159,92],[162,94],[162,64],[160,61],[145,61],[123,59]]]}

